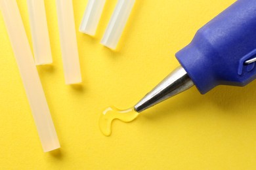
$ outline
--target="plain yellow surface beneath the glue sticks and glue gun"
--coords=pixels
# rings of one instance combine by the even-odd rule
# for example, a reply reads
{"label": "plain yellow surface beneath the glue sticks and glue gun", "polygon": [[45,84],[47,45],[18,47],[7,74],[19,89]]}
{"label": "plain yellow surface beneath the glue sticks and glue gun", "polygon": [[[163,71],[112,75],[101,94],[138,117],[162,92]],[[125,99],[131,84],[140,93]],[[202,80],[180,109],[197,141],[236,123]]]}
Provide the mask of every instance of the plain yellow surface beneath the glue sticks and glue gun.
{"label": "plain yellow surface beneath the glue sticks and glue gun", "polygon": [[[30,44],[25,0],[18,0]],[[107,1],[95,37],[77,31],[83,83],[64,84],[56,5],[46,0],[53,65],[38,71],[61,148],[43,153],[0,14],[1,169],[255,169],[256,82],[196,88],[143,112],[135,122],[98,129],[109,105],[131,107],[179,65],[175,52],[234,0],[137,0],[116,52],[99,42],[116,5]],[[78,30],[87,0],[74,0]]]}

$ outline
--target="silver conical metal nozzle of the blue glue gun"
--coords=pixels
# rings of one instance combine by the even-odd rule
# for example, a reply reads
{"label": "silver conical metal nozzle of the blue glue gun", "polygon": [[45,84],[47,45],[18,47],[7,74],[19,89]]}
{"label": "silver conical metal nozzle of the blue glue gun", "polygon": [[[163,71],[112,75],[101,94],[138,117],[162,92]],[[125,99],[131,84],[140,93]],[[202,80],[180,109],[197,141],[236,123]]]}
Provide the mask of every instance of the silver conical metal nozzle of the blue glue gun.
{"label": "silver conical metal nozzle of the blue glue gun", "polygon": [[190,79],[183,67],[178,67],[167,76],[156,88],[142,98],[134,109],[137,112],[142,112],[169,97],[173,97],[185,90],[194,86],[194,82]]}

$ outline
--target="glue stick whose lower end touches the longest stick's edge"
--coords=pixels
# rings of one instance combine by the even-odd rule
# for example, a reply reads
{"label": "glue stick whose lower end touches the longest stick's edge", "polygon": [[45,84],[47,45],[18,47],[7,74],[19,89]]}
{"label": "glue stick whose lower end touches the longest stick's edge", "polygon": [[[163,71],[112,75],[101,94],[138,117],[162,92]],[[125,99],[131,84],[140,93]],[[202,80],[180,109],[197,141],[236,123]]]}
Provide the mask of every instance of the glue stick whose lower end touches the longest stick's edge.
{"label": "glue stick whose lower end touches the longest stick's edge", "polygon": [[53,63],[44,0],[27,0],[35,64]]}

